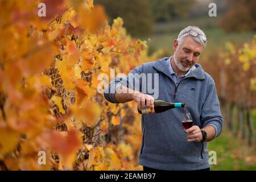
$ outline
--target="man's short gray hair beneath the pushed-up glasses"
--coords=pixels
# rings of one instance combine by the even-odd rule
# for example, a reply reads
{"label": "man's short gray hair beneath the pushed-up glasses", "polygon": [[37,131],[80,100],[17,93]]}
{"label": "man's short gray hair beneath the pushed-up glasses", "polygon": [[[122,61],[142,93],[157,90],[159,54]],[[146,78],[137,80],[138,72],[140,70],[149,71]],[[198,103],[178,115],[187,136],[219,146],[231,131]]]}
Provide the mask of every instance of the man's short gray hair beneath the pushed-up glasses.
{"label": "man's short gray hair beneath the pushed-up glasses", "polygon": [[[190,32],[195,32],[197,36],[192,36]],[[191,37],[193,38],[193,40],[195,40],[195,42],[200,43],[205,48],[207,44],[207,36],[205,36],[204,32],[199,27],[196,27],[196,26],[188,26],[183,30],[181,30],[180,34],[177,37],[178,43],[182,43],[184,38],[186,38],[189,35],[191,35]]]}

